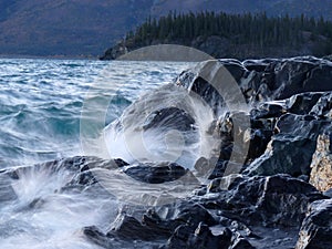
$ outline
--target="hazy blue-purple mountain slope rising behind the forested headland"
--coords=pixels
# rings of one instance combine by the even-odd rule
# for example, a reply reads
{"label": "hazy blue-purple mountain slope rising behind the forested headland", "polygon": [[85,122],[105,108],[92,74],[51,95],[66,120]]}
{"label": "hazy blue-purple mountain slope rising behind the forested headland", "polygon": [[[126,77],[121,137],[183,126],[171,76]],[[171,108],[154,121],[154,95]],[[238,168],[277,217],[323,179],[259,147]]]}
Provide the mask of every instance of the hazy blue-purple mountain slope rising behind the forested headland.
{"label": "hazy blue-purple mountain slope rising behind the forested headland", "polygon": [[331,0],[0,0],[0,54],[101,55],[149,14],[175,9],[332,19]]}

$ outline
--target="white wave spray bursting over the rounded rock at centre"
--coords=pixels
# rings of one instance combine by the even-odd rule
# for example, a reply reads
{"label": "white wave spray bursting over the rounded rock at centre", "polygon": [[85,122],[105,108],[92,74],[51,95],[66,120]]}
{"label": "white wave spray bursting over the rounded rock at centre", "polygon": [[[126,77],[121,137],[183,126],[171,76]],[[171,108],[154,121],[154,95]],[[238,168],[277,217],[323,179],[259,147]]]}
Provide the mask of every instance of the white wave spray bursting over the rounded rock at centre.
{"label": "white wave spray bursting over the rounded rock at centre", "polygon": [[187,90],[168,84],[141,96],[105,129],[111,158],[176,162],[193,169],[219,142],[209,134],[214,113]]}

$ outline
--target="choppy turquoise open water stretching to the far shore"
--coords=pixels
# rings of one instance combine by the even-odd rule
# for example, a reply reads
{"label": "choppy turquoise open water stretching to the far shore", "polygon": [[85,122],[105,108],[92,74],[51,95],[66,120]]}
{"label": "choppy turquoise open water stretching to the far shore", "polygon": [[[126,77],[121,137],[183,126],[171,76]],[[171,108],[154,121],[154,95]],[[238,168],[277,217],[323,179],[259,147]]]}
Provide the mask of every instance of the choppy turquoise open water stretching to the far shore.
{"label": "choppy turquoise open water stretching to the far shore", "polygon": [[[172,82],[188,63],[0,60],[0,168],[82,155],[87,91],[110,100],[106,122],[144,92]],[[101,82],[103,87],[101,87]],[[98,103],[97,101],[95,103]],[[94,106],[97,111],[100,106]]]}

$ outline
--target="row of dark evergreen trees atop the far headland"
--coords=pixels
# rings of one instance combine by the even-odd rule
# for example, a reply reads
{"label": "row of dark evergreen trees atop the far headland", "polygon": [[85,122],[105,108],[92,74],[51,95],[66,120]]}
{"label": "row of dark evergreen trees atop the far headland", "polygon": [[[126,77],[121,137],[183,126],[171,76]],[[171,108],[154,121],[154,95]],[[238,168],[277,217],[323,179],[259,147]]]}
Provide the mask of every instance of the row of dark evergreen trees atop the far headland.
{"label": "row of dark evergreen trees atop the far headland", "polygon": [[228,39],[235,45],[261,49],[300,49],[311,43],[314,55],[332,53],[332,22],[304,14],[268,17],[266,13],[169,12],[158,20],[149,17],[135,31],[128,32],[123,42],[129,50],[156,43],[191,45],[197,38],[204,41],[212,35]]}

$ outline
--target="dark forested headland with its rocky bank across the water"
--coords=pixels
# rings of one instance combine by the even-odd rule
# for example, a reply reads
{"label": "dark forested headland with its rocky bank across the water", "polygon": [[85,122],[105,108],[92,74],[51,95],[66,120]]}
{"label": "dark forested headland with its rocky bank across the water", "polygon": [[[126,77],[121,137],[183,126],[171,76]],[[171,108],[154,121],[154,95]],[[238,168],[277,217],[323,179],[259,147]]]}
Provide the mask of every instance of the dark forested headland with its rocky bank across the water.
{"label": "dark forested headland with its rocky bank across the water", "polygon": [[260,58],[332,53],[332,22],[323,18],[291,18],[258,14],[170,12],[160,19],[148,18],[103,59],[114,59],[122,51],[175,43],[203,50],[212,56]]}

